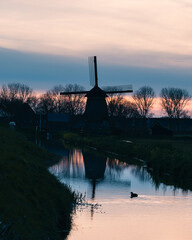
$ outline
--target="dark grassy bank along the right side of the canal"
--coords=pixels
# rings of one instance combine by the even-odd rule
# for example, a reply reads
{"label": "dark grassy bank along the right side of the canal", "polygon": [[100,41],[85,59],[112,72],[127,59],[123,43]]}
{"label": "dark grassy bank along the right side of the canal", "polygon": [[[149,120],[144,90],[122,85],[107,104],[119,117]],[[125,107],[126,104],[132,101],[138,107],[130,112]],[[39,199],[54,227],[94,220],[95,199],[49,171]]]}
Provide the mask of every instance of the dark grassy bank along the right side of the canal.
{"label": "dark grassy bank along the right side of the canal", "polygon": [[[80,136],[65,133],[68,142],[91,146],[99,151],[119,154],[120,159],[133,162],[143,159],[148,171],[160,181],[173,184],[184,189],[192,189],[192,140],[184,138],[129,138],[132,143],[125,142],[125,137],[117,136]],[[156,176],[155,176],[156,175]],[[157,177],[158,176],[158,177]]]}

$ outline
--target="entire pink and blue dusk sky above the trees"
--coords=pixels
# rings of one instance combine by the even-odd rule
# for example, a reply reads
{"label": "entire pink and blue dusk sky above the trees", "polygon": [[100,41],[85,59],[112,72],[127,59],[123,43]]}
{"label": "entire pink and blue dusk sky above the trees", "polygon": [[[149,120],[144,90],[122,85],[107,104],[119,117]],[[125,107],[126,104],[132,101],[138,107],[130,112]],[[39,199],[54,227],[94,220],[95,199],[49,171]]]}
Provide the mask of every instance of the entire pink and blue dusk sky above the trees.
{"label": "entire pink and blue dusk sky above the trees", "polygon": [[1,0],[0,85],[148,85],[192,95],[191,0]]}

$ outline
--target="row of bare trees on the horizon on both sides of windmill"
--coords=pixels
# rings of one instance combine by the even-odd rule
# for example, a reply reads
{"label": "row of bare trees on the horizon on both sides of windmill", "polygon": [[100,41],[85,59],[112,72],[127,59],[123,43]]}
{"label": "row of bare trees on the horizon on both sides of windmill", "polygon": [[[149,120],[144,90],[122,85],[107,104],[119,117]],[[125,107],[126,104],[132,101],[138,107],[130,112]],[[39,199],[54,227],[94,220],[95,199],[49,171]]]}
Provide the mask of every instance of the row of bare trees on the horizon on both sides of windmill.
{"label": "row of bare trees on the horizon on both sides of windmill", "polygon": [[[105,90],[115,90],[108,88]],[[60,92],[85,91],[78,84],[57,85],[37,96],[33,89],[21,83],[3,85],[0,89],[1,115],[9,115],[19,104],[27,103],[37,114],[67,113],[70,115],[83,114],[85,98],[83,94],[60,95]],[[180,88],[162,88],[160,92],[161,108],[169,118],[189,118],[185,110],[191,96],[188,91]],[[126,118],[152,117],[152,108],[156,100],[153,88],[143,86],[135,91],[132,99],[128,100],[123,94],[108,94],[107,106],[109,116]]]}

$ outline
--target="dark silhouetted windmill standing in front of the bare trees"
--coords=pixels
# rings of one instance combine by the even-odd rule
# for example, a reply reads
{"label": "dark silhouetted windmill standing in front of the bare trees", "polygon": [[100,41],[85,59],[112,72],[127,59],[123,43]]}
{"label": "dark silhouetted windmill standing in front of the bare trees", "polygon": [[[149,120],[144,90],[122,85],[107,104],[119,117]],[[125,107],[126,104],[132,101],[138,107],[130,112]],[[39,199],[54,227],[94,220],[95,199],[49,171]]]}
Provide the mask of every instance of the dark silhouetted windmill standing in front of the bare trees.
{"label": "dark silhouetted windmill standing in front of the bare trees", "polygon": [[89,91],[77,91],[77,92],[61,92],[61,95],[69,94],[85,94],[87,97],[87,103],[84,113],[84,118],[87,122],[103,122],[108,120],[108,111],[106,98],[107,94],[118,94],[118,93],[130,93],[132,87],[116,86],[111,88],[112,90],[104,90],[98,86],[98,75],[97,75],[97,58],[96,56],[89,57],[89,75],[90,82],[93,88]]}

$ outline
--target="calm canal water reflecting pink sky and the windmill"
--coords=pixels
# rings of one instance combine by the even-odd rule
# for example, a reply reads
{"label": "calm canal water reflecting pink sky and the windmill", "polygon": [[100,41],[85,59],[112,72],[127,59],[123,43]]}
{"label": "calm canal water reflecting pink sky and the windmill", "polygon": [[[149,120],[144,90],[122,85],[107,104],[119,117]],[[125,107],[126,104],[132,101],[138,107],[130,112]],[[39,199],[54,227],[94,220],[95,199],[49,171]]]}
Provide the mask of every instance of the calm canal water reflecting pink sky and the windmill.
{"label": "calm canal water reflecting pink sky and the windmill", "polygon": [[[51,148],[51,173],[86,195],[67,240],[191,240],[192,193],[160,184],[144,168],[80,149]],[[130,192],[139,194],[130,198]],[[98,204],[98,205],[93,205]]]}

